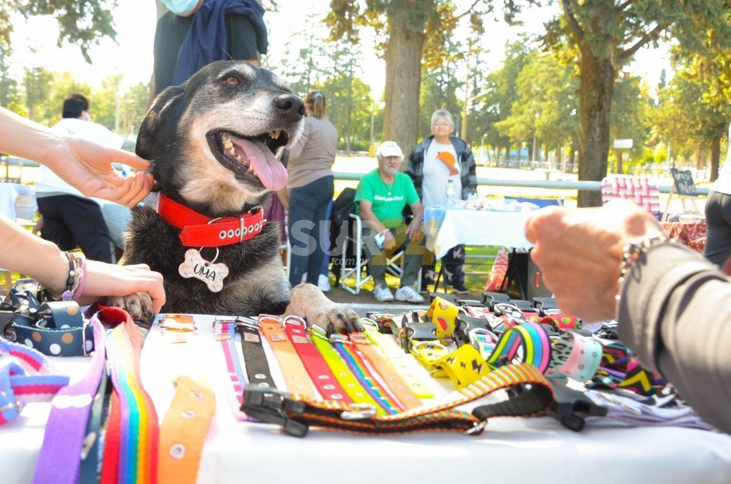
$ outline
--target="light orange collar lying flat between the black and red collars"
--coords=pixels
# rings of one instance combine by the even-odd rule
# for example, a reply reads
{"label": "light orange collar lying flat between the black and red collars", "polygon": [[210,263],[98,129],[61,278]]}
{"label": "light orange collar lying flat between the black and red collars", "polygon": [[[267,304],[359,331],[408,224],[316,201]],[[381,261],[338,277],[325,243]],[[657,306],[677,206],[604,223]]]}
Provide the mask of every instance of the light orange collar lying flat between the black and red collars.
{"label": "light orange collar lying flat between the black and red collars", "polygon": [[284,382],[287,383],[287,391],[289,393],[300,393],[314,399],[315,393],[312,380],[310,380],[307,370],[299,356],[297,356],[297,350],[292,346],[287,334],[284,333],[284,329],[279,323],[279,316],[260,315],[259,325],[262,334],[269,340],[274,356],[279,361],[279,368],[284,376]]}

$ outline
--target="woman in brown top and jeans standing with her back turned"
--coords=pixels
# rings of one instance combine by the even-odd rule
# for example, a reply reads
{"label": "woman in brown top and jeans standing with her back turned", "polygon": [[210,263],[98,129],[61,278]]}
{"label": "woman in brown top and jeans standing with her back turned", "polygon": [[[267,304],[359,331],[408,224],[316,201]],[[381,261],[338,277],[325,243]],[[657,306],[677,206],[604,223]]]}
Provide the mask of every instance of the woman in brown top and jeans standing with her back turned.
{"label": "woman in brown top and jeans standing with her back turned", "polygon": [[325,212],[333,201],[334,179],[331,167],[335,162],[338,131],[325,117],[327,103],[320,91],[309,93],[305,99],[305,127],[297,144],[289,153],[287,164],[287,191],[285,199],[289,210],[289,283],[292,287],[302,282],[317,285],[324,244],[329,243]]}

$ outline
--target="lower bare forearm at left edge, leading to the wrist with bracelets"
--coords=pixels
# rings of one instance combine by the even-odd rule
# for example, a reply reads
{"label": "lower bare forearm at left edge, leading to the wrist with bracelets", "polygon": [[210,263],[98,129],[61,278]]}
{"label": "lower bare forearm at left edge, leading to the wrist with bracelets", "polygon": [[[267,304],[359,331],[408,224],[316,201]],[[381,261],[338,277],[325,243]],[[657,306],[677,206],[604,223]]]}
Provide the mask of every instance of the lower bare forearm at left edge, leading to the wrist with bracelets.
{"label": "lower bare forearm at left edge, leading to the wrist with bracelets", "polygon": [[64,290],[69,262],[55,244],[1,214],[0,231],[0,267],[32,277],[54,294]]}

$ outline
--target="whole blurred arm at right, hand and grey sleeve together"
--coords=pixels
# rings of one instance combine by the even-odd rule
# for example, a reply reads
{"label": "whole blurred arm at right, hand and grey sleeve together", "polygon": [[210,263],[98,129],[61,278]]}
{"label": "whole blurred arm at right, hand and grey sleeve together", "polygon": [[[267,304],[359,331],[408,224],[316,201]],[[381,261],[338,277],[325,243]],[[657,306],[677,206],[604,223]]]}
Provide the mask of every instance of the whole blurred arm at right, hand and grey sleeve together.
{"label": "whole blurred arm at right, hand and grey sleeve together", "polygon": [[[546,208],[526,223],[532,257],[562,310],[616,319],[643,366],[675,385],[717,429],[731,432],[731,280],[700,254],[659,242],[662,228],[629,201]],[[627,244],[649,247],[630,261]]]}

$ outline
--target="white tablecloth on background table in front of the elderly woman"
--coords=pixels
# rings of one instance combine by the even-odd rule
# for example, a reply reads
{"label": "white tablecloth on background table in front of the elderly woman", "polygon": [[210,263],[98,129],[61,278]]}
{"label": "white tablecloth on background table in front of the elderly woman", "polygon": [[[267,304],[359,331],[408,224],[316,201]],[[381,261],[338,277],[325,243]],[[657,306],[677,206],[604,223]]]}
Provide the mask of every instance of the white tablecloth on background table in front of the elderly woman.
{"label": "white tablecloth on background table in front of the elderly woman", "polygon": [[[525,234],[529,215],[529,212],[427,207],[424,212],[426,245],[437,258],[444,257],[448,250],[458,244],[530,248],[533,244],[528,242]],[[442,220],[441,223],[439,220]]]}

